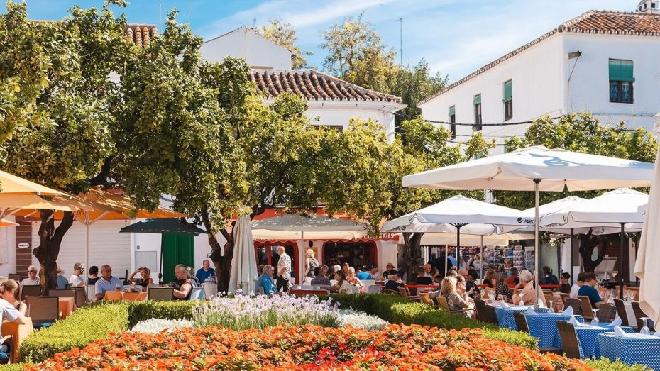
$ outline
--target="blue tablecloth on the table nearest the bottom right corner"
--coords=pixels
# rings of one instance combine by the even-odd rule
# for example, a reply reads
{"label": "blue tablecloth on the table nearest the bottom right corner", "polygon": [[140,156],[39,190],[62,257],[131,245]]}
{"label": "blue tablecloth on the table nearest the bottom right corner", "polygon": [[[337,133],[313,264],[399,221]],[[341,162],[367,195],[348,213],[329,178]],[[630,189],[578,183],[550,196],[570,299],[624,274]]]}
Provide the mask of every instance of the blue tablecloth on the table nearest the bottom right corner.
{"label": "blue tablecloth on the table nearest the bottom right corner", "polygon": [[660,370],[660,337],[631,334],[630,338],[617,338],[613,333],[598,335],[600,355],[610,360],[619,358],[627,365],[647,365]]}

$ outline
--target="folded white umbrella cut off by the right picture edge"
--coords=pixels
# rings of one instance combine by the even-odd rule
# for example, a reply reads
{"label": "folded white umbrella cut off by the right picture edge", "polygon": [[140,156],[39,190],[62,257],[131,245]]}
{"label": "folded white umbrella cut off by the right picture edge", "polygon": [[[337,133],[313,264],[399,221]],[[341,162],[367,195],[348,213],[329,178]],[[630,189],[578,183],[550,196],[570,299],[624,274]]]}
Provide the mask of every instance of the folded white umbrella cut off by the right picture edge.
{"label": "folded white umbrella cut off by the right picture edge", "polygon": [[[660,152],[656,165],[660,164]],[[641,279],[639,284],[639,307],[654,323],[660,323],[660,249],[654,244],[660,240],[660,167],[656,166],[649,203],[645,208],[644,228],[639,238],[634,274]],[[643,207],[640,209],[644,209]]]}

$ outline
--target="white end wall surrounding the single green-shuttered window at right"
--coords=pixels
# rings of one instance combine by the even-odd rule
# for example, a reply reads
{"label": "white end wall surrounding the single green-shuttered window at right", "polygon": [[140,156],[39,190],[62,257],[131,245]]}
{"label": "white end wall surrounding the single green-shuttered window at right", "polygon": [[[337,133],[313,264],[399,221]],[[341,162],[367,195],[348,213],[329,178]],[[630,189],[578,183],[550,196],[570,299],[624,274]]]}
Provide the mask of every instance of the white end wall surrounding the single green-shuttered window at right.
{"label": "white end wall surrounding the single green-shuttered window at right", "polygon": [[[629,35],[563,35],[564,53],[580,50],[581,57],[569,60],[566,76],[568,111],[590,111],[604,123],[626,121],[629,128],[653,130],[660,112],[660,38]],[[610,103],[609,60],[634,62],[634,102]]]}

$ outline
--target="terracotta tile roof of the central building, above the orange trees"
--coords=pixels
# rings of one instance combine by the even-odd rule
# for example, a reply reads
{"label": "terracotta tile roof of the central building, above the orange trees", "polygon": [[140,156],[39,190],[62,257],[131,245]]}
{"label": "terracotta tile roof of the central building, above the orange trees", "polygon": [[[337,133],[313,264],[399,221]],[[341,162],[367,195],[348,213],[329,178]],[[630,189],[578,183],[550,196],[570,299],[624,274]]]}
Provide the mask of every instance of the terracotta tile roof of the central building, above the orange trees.
{"label": "terracotta tile roof of the central building, above the orange trees", "polygon": [[310,101],[387,101],[401,103],[399,96],[374,92],[317,70],[252,70],[257,90],[269,97],[283,92],[299,94]]}

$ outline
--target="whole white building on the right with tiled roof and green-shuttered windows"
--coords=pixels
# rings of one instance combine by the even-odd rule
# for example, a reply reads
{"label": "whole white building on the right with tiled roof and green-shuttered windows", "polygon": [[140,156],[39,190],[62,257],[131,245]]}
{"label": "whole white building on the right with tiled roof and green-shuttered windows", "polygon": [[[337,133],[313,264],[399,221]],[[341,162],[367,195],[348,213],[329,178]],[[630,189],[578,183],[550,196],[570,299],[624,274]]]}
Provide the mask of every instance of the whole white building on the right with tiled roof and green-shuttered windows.
{"label": "whole white building on the right with tiled roof and green-shuttered windows", "polygon": [[[644,2],[649,9],[657,4]],[[660,112],[659,58],[657,11],[589,11],[419,106],[424,118],[432,121],[515,123],[588,111],[603,123],[625,121],[630,129],[652,130]],[[529,124],[445,126],[455,130],[458,141],[480,130],[502,144],[512,135],[524,135]],[[493,152],[502,153],[502,146]]]}

